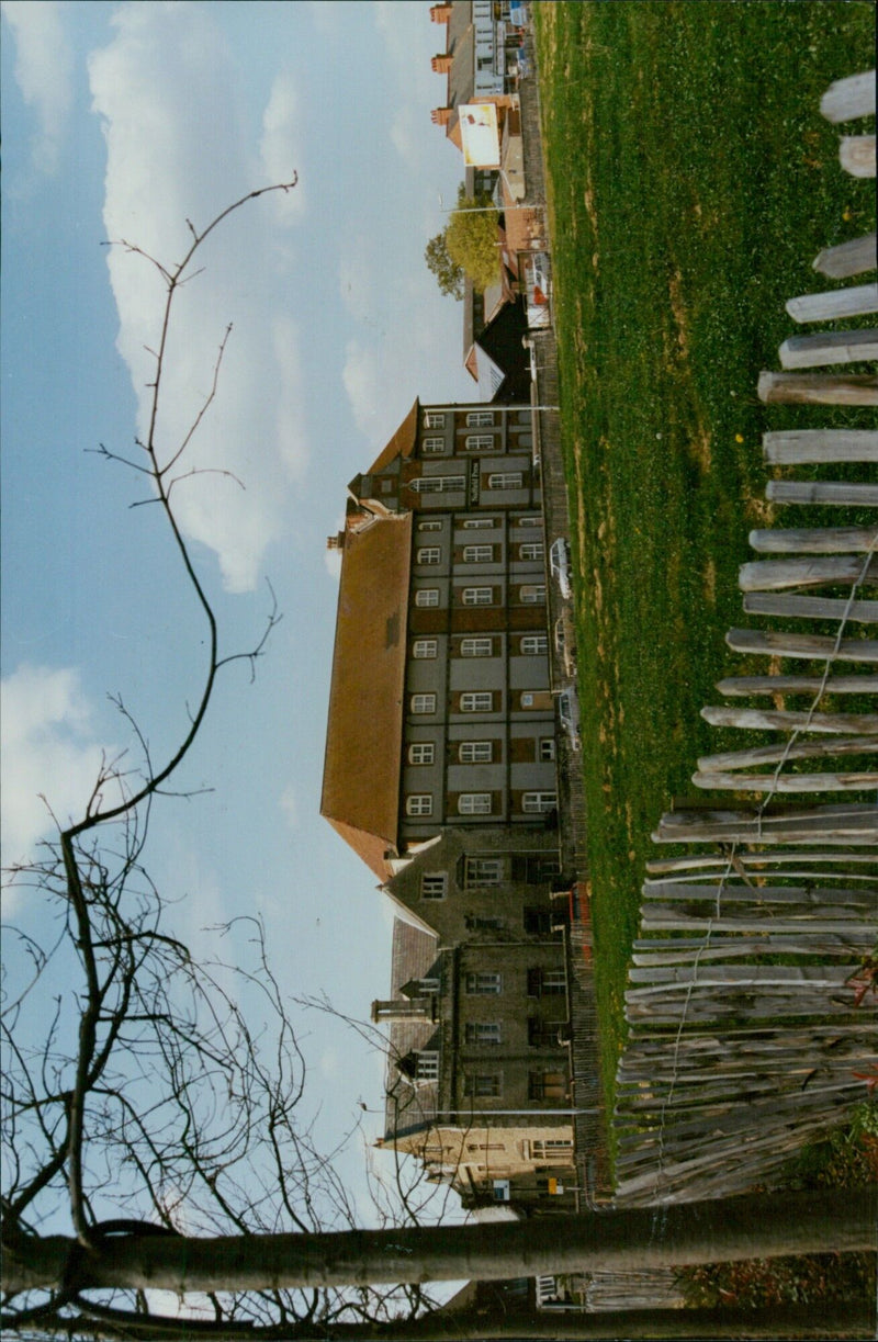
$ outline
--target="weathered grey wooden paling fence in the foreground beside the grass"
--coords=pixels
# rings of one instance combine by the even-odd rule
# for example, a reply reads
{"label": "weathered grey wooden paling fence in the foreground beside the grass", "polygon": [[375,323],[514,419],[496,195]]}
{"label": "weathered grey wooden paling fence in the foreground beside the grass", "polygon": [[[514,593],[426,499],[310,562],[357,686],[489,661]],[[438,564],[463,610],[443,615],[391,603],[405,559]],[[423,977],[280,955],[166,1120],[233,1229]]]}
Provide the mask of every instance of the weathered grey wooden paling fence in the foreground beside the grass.
{"label": "weathered grey wooden paling fence in the foreground beside the grass", "polygon": [[[822,102],[838,122],[874,110],[874,71],[839,81]],[[874,176],[874,136],[843,137],[839,158]],[[875,270],[875,234],[822,251],[814,267],[836,280]],[[875,313],[878,285],[806,294],[787,311],[799,323]],[[877,356],[878,330],[792,336],[759,395],[769,405],[878,405],[878,377],[862,370]],[[801,372],[848,364],[854,372]],[[720,683],[732,703],[703,717],[748,735],[699,760],[693,782],[734,797],[675,809],[652,836],[686,851],[651,862],[643,886],[614,1115],[622,1205],[771,1185],[878,1080],[878,639],[867,636],[878,483],[850,480],[846,464],[878,463],[878,431],[769,432],[764,455],[783,468],[769,502],[847,511],[828,527],[750,533],[759,558],[740,574],[745,615],[799,623],[729,632],[729,647],[757,666],[764,658],[765,670]],[[839,478],[812,479],[815,463]],[[796,466],[807,478],[791,478]],[[807,620],[819,632],[801,632]]]}

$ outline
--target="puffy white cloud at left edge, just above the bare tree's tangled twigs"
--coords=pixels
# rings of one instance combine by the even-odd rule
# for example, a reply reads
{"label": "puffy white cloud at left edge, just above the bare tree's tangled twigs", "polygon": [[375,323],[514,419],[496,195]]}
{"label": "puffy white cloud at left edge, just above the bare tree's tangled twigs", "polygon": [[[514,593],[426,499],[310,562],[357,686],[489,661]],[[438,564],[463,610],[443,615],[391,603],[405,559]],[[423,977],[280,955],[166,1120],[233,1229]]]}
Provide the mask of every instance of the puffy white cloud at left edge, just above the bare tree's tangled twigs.
{"label": "puffy white cloud at left edge, just above the bare tree's tangled twigs", "polygon": [[[106,757],[114,754],[109,749]],[[55,831],[55,820],[64,825],[83,815],[103,760],[75,668],[20,666],[4,679],[4,863],[32,856],[36,843]]]}

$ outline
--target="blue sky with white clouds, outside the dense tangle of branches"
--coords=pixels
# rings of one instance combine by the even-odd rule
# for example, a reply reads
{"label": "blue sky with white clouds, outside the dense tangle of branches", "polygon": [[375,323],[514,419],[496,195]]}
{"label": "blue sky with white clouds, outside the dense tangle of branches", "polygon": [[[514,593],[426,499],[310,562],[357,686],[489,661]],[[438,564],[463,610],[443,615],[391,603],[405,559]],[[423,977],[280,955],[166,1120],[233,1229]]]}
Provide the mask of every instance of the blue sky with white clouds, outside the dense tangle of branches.
{"label": "blue sky with white clouds, outside the dense tangle of branches", "polygon": [[[156,268],[256,187],[203,254],[172,331],[160,440],[201,471],[177,515],[224,651],[282,621],[255,683],[228,668],[148,864],[173,926],[258,913],[291,996],[368,1019],[389,985],[375,876],[320,817],[337,572],[325,548],[345,486],[413,399],[474,400],[462,307],[423,262],[459,153],[431,123],[444,28],[426,0],[3,4],[3,855],[81,813],[102,753],[161,760],[197,698],[204,629],[137,474],[162,293]],[[111,246],[107,246],[111,243]],[[269,588],[269,584],[271,585]],[[358,762],[368,768],[368,761]],[[211,790],[201,790],[211,789]],[[51,808],[51,813],[50,813]],[[184,898],[188,896],[188,898]],[[7,894],[39,931],[44,913]],[[340,1023],[301,1017],[326,1145],[367,1114],[381,1067]],[[357,1157],[358,1158],[358,1157]]]}

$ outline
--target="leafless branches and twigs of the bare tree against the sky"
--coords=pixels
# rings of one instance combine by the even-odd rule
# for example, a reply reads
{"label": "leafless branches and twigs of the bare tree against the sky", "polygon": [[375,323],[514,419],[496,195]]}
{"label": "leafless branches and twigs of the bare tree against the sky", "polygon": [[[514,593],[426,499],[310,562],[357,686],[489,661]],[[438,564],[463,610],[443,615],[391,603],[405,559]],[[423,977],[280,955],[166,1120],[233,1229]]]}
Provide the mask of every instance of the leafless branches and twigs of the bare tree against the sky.
{"label": "leafless branches and twigs of the bare tree against the sky", "polygon": [[[187,450],[213,403],[231,327],[216,356],[209,392],[176,446],[160,455],[158,415],[166,377],[168,338],[181,287],[196,274],[207,239],[235,211],[267,192],[251,192],[191,242],[175,266],[122,243],[158,274],[165,302],[154,348],[148,428],[136,454],[101,454],[133,470],[157,503],[180,556],[207,629],[207,664],[188,730],[164,761],[126,705],[117,707],[140,750],[105,760],[82,815],[58,825],[35,860],[8,872],[12,884],[46,909],[46,943],[8,926],[1,1013],[3,1243],[4,1259],[30,1252],[47,1225],[66,1219],[78,1252],[99,1252],[132,1235],[175,1241],[201,1233],[310,1233],[354,1225],[354,1208],[333,1165],[318,1153],[311,1126],[298,1121],[305,1064],[287,1005],[266,960],[263,929],[239,919],[248,933],[250,964],[197,964],[165,927],[166,900],[144,860],[156,800],[173,794],[176,776],[207,719],[216,678],[258,659],[279,620],[274,595],[262,635],[243,652],[226,652],[205,585],[175,514],[175,490],[199,474]],[[200,635],[199,635],[200,636]],[[201,636],[200,636],[201,637]],[[231,927],[216,929],[217,937]],[[15,976],[7,966],[16,965]],[[21,973],[21,966],[27,972]],[[238,1002],[247,994],[251,1019]],[[254,1007],[255,1004],[255,1007]],[[379,1221],[389,1213],[385,1208]],[[16,1292],[19,1294],[19,1292]],[[110,1303],[107,1303],[110,1300]],[[411,1314],[418,1287],[403,1292],[271,1290],[242,1295],[234,1287],[208,1294],[201,1307],[213,1322],[287,1326]],[[8,1302],[7,1302],[8,1306]],[[67,1331],[71,1318],[126,1317],[157,1326],[148,1296],[105,1292],[85,1302],[66,1270],[48,1295],[5,1308],[7,1327]],[[172,1325],[169,1325],[172,1326]]]}

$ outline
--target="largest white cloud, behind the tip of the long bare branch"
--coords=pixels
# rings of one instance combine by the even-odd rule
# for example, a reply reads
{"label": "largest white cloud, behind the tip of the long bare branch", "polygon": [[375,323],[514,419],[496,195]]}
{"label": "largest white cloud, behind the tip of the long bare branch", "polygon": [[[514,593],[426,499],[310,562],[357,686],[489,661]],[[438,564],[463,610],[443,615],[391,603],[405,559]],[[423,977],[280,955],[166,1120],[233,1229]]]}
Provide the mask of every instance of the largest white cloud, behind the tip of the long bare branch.
{"label": "largest white cloud, behind the tip of the long bare branch", "polygon": [[[234,54],[209,5],[125,5],[113,25],[113,42],[89,62],[107,145],[107,238],[175,264],[191,243],[188,219],[204,228],[290,154],[294,90],[286,78],[275,83],[262,141],[248,146]],[[285,176],[290,166],[285,162]],[[281,208],[287,219],[295,212]],[[157,440],[173,451],[211,389],[231,322],[216,400],[181,463],[181,474],[213,474],[180,484],[175,502],[185,534],[216,553],[226,586],[238,592],[255,586],[264,550],[289,526],[290,486],[303,479],[309,458],[297,333],[286,315],[291,298],[273,220],[277,225],[277,211],[264,201],[247,204],[205,244],[204,274],[175,302],[158,419]],[[158,340],[164,287],[154,266],[124,247],[111,247],[107,263],[117,345],[144,436],[154,378],[148,350]]]}

